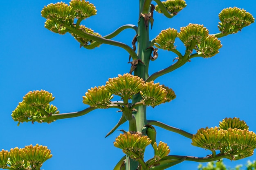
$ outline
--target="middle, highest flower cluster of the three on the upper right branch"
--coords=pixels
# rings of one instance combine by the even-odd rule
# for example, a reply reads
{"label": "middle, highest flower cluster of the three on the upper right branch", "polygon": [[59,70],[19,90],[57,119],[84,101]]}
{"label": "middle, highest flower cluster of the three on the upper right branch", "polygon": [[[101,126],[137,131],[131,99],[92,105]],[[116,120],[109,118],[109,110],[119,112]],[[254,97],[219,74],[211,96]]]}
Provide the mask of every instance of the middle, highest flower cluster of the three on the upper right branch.
{"label": "middle, highest flower cluster of the three on the upper right branch", "polygon": [[203,25],[189,24],[188,26],[181,27],[180,33],[177,33],[177,35],[188,50],[193,50],[196,45],[201,44],[207,39],[209,31]]}

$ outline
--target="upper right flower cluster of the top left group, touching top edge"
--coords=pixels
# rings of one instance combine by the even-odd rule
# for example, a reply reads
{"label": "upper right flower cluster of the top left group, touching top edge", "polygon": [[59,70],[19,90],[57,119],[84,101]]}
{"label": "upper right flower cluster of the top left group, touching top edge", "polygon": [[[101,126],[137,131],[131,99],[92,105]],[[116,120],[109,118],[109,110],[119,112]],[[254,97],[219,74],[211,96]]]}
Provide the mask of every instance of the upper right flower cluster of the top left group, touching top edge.
{"label": "upper right flower cluster of the top left group, touching top edge", "polygon": [[70,6],[78,15],[77,18],[86,19],[92,15],[97,14],[96,7],[94,4],[86,2],[85,0],[71,0]]}

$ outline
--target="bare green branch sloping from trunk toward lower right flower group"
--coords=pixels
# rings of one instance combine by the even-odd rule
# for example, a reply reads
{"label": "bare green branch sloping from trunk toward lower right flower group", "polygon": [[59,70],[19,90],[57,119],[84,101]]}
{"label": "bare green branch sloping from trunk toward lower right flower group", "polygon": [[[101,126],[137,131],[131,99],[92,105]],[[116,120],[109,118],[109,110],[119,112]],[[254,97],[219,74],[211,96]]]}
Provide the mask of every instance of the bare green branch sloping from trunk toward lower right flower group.
{"label": "bare green branch sloping from trunk toward lower right flower group", "polygon": [[189,139],[192,139],[192,137],[193,137],[193,134],[191,134],[191,133],[188,133],[188,132],[183,131],[181,129],[175,128],[173,126],[169,126],[169,125],[164,124],[162,122],[158,122],[156,120],[148,120],[148,124],[159,126],[159,127],[163,128],[163,129],[166,129],[168,131],[172,131],[172,132],[178,133],[180,135],[183,135],[183,136],[185,136],[185,137],[187,137]]}

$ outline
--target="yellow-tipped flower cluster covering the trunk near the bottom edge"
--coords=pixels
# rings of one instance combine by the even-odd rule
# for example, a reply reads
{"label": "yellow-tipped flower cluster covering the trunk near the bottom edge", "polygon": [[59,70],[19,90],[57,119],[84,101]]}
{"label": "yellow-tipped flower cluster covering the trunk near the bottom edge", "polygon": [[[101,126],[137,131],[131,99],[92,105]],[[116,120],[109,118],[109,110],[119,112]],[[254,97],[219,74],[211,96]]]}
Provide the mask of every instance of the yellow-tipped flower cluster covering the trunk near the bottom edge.
{"label": "yellow-tipped flower cluster covering the trunk near the bottom edge", "polygon": [[134,160],[143,158],[145,148],[152,141],[148,136],[142,136],[141,133],[124,133],[120,134],[114,142],[114,146],[123,150],[125,154]]}

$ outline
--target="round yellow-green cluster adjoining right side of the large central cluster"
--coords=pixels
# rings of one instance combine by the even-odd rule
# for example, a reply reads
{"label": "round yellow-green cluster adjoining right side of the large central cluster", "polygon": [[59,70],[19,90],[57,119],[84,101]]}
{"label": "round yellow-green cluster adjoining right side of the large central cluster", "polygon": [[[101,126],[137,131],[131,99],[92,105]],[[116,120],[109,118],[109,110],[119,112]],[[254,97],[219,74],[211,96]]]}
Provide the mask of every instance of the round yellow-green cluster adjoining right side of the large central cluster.
{"label": "round yellow-green cluster adjoining right side of the large central cluster", "polygon": [[159,83],[150,81],[145,83],[145,88],[140,91],[140,94],[145,105],[155,107],[166,102],[168,92]]}

